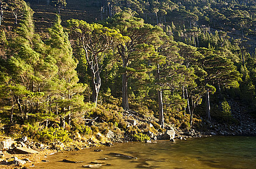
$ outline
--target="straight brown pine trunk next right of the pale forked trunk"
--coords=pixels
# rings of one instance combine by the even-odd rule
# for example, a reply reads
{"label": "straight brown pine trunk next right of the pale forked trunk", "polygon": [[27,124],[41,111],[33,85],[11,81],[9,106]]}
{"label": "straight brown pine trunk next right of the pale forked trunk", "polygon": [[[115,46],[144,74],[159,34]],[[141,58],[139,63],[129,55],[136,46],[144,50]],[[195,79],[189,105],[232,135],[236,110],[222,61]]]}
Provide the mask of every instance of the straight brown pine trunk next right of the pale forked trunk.
{"label": "straight brown pine trunk next right of the pale forked trunk", "polygon": [[[123,58],[123,68],[128,66],[128,59]],[[128,76],[125,72],[122,75],[122,108],[124,110],[129,110],[129,103],[128,103]]]}

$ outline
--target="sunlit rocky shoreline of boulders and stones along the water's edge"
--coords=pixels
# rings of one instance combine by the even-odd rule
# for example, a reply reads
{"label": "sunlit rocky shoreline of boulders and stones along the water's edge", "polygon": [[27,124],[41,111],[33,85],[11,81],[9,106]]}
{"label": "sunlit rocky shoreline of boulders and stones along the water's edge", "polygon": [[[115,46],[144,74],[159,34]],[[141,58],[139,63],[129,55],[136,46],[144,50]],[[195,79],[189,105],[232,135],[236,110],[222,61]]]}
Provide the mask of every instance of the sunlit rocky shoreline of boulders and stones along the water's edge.
{"label": "sunlit rocky shoreline of boulders and stones along the water's edge", "polygon": [[[142,133],[147,138],[144,140],[147,143],[156,140],[176,141],[177,139],[186,140],[192,137],[214,135],[256,135],[255,119],[249,114],[243,113],[245,108],[239,106],[232,107],[232,118],[235,119],[235,124],[220,124],[215,121],[210,122],[202,119],[198,127],[192,127],[188,130],[181,130],[172,125],[166,125],[165,129],[156,130],[157,119],[155,117],[144,116],[135,111],[123,112],[122,117],[127,123],[127,127],[135,129],[136,132]],[[26,136],[22,138],[0,137],[0,168],[26,169],[39,162],[47,162],[47,155],[52,155],[59,151],[77,151],[86,147],[111,146],[115,142],[135,141],[132,135],[124,134],[120,136],[111,130],[108,130],[105,135],[98,133],[95,138],[98,141],[92,138],[88,140],[79,138],[78,141],[76,139],[76,141],[65,144],[59,141],[42,144],[31,141]]]}

